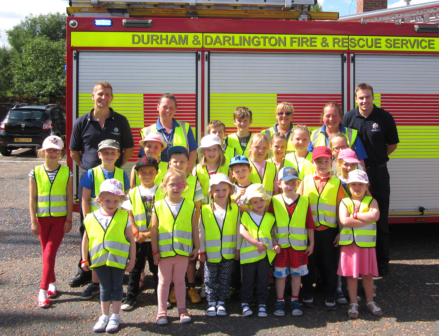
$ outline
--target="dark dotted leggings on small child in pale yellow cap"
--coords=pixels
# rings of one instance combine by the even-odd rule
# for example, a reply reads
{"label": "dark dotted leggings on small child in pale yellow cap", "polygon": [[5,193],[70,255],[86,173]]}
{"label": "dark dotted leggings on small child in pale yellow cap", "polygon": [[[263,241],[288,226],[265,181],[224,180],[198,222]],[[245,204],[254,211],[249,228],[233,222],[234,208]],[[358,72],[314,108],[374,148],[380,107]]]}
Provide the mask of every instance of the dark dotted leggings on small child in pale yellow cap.
{"label": "dark dotted leggings on small child in pale yellow cap", "polygon": [[253,296],[253,286],[256,277],[256,294],[258,304],[266,304],[268,298],[268,276],[270,275],[270,262],[268,257],[242,264],[241,302],[248,304]]}

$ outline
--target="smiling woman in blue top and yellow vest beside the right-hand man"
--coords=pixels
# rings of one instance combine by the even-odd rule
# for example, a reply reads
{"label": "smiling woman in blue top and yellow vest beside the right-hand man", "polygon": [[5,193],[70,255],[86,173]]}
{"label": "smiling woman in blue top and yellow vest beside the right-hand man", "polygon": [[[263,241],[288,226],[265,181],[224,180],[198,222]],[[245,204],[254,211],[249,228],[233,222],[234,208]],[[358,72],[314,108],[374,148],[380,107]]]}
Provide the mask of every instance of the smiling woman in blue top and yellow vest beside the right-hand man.
{"label": "smiling woman in blue top and yellow vest beside the right-hand man", "polygon": [[[364,159],[367,158],[361,139],[357,136],[356,129],[348,129],[342,124],[343,112],[340,105],[335,101],[330,101],[323,107],[320,120],[323,126],[320,129],[315,129],[311,133],[311,140],[308,144],[308,151],[312,152],[314,147],[326,146],[329,147],[329,140],[335,133],[342,133],[348,140],[349,148],[355,152],[361,165],[364,167]],[[341,149],[345,149],[345,146]]]}

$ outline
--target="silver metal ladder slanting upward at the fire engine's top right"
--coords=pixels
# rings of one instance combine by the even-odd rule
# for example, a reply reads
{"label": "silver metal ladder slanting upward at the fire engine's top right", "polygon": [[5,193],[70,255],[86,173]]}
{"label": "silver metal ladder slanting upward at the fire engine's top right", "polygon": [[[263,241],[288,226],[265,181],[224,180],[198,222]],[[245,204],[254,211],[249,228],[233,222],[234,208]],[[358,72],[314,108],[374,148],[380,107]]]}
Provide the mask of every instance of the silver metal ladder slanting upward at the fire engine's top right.
{"label": "silver metal ladder slanting upward at the fire engine's top right", "polygon": [[438,23],[439,1],[341,16],[338,21]]}

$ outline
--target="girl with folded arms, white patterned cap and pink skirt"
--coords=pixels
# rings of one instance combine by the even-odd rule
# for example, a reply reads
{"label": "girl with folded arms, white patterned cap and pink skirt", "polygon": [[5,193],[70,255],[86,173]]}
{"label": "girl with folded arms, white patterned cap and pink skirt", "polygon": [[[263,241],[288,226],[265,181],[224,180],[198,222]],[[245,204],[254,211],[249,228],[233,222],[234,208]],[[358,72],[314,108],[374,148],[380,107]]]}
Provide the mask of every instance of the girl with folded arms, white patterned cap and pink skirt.
{"label": "girl with folded arms, white patterned cap and pink skirt", "polygon": [[339,218],[343,225],[340,232],[341,245],[338,274],[347,279],[349,297],[348,315],[358,318],[357,286],[361,275],[366,307],[373,315],[380,316],[382,310],[374,302],[373,276],[378,276],[378,266],[375,254],[377,225],[375,221],[380,216],[378,203],[370,196],[366,196],[369,186],[367,174],[355,169],[348,174],[347,186],[352,194],[350,198],[343,198],[339,206]]}

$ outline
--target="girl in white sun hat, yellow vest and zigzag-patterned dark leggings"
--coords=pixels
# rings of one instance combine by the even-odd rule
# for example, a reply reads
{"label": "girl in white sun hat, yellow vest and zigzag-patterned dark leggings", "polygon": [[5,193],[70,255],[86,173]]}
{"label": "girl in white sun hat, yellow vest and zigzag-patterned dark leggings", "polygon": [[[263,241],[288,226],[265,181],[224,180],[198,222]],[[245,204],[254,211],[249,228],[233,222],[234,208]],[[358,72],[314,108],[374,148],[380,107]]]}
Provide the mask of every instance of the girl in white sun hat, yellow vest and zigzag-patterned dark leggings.
{"label": "girl in white sun hat, yellow vest and zigzag-patterned dark leggings", "polygon": [[201,208],[199,255],[200,262],[205,262],[208,316],[227,314],[225,301],[229,295],[232,268],[234,260],[239,259],[242,238],[239,234],[239,208],[230,199],[233,193],[234,184],[227,175],[212,175],[209,181],[212,203]]}

